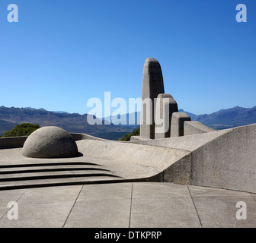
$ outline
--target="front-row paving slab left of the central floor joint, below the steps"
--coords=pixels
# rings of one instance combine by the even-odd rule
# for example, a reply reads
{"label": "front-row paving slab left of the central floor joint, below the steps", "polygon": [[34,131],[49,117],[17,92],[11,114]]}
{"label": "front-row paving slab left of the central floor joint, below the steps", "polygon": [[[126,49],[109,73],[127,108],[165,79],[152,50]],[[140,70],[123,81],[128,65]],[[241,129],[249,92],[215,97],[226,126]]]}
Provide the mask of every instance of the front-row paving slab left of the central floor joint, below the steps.
{"label": "front-row paving slab left of the central floor joint, below the steps", "polygon": [[130,199],[80,200],[75,203],[64,227],[127,228]]}

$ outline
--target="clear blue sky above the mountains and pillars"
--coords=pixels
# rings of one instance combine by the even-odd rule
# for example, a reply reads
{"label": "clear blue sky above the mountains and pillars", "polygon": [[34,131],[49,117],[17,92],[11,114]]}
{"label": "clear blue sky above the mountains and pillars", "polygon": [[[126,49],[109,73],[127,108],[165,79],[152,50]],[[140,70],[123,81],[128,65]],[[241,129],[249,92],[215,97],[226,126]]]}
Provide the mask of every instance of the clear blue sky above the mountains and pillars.
{"label": "clear blue sky above the mountains and pillars", "polygon": [[137,98],[148,57],[179,108],[256,106],[255,0],[1,0],[0,30],[0,106],[84,114],[107,91]]}

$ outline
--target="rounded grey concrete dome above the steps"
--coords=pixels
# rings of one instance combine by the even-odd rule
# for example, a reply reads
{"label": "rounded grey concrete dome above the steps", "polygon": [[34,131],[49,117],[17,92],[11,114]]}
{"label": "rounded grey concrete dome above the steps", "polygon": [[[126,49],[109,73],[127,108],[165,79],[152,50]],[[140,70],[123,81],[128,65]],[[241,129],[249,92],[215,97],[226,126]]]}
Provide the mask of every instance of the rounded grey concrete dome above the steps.
{"label": "rounded grey concrete dome above the steps", "polygon": [[69,158],[78,156],[78,148],[64,129],[43,127],[27,137],[22,154],[29,158]]}

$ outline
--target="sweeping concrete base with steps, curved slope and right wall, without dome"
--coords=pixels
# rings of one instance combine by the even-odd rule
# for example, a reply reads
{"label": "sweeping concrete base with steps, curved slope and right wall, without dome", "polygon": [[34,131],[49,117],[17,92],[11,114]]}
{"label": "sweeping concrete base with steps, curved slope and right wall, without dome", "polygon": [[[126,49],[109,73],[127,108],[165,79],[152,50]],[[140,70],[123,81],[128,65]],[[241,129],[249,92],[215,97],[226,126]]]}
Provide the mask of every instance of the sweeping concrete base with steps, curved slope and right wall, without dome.
{"label": "sweeping concrete base with steps, curved slope and right wall, without dome", "polygon": [[[139,180],[256,192],[256,125],[130,143],[105,140],[76,143],[82,156],[66,159],[26,158],[21,148],[0,150],[0,189]],[[29,172],[31,165],[38,163],[46,171],[37,168]],[[49,170],[50,163],[56,164],[53,171]],[[59,170],[63,169],[59,167],[62,163],[69,163],[66,171]],[[86,168],[90,170],[79,171],[76,163],[92,166]],[[14,171],[6,174],[6,166]],[[95,166],[102,170],[97,171]]]}

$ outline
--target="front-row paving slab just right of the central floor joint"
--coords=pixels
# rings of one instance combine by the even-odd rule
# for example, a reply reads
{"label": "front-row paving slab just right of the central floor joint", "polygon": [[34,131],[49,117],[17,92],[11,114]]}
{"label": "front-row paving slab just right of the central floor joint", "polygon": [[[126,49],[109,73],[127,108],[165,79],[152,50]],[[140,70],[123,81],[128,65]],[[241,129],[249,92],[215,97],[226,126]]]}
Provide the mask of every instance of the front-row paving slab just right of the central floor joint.
{"label": "front-row paving slab just right of the central floor joint", "polygon": [[130,227],[200,227],[200,221],[190,197],[133,199]]}

